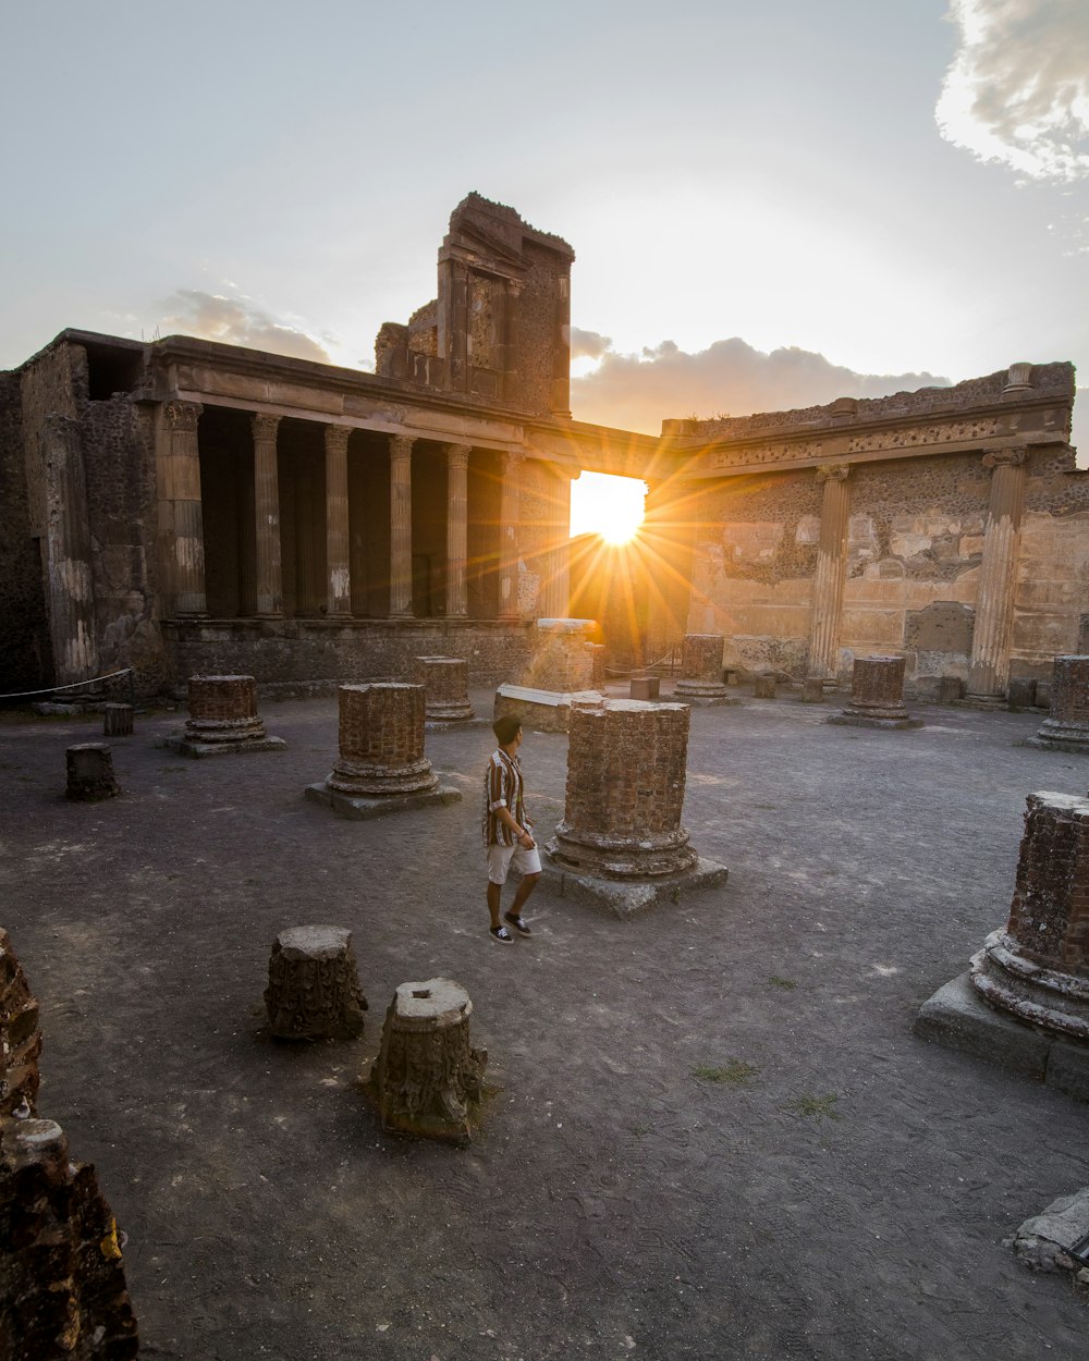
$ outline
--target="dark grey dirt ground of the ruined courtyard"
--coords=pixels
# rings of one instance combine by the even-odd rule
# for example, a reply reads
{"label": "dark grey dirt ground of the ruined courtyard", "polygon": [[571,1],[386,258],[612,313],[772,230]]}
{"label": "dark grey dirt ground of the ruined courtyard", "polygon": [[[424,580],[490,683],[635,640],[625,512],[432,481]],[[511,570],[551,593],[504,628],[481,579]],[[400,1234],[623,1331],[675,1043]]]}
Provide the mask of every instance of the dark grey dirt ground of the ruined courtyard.
{"label": "dark grey dirt ground of the ruined courtyard", "polygon": [[[1089,762],[1020,746],[1039,715],[834,709],[694,709],[685,825],[726,886],[630,921],[542,886],[513,947],[486,930],[486,725],[427,735],[461,803],[350,822],[302,796],[334,700],[267,704],[287,751],[246,758],[137,719],[124,795],[91,806],[64,749],[101,720],[7,716],[0,924],[42,1003],[39,1113],[128,1234],[142,1354],[1081,1361],[1089,1307],[1002,1239],[1089,1183],[1089,1106],[911,1025],[1006,919],[1025,795],[1084,793]],[[527,732],[539,833],[565,758]],[[268,1038],[272,938],[306,923],[354,932],[358,1041]],[[359,1090],[393,988],[433,976],[468,988],[501,1087],[467,1150],[383,1135]]]}

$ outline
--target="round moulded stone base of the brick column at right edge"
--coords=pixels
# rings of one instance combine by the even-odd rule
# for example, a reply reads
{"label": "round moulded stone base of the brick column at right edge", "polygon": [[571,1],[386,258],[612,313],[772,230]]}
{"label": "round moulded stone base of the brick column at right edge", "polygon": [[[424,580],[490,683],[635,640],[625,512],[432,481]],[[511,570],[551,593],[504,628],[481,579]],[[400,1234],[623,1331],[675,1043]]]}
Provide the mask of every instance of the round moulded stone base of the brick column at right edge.
{"label": "round moulded stone base of the brick column at right edge", "polygon": [[1051,1034],[1089,1040],[1089,979],[1025,958],[1006,931],[992,931],[969,964],[972,987],[992,1007]]}

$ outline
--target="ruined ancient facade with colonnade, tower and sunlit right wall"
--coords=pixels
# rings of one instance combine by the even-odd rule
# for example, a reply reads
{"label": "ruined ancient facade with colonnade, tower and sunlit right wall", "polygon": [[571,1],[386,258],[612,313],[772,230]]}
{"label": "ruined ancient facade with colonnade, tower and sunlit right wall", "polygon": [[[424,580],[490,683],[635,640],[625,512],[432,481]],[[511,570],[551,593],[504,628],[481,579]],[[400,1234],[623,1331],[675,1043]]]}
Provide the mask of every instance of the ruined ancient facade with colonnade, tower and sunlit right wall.
{"label": "ruined ancient facade with colonnade, tower and sunlit right wall", "polygon": [[[1084,651],[1070,365],[655,440],[570,418],[572,260],[470,195],[373,374],[80,331],[0,374],[0,689],[132,666],[143,693],[332,691],[418,656],[494,683],[572,614],[621,664],[716,633],[728,667],[840,683],[903,655],[923,694]],[[647,479],[648,520],[572,563],[583,468]]]}

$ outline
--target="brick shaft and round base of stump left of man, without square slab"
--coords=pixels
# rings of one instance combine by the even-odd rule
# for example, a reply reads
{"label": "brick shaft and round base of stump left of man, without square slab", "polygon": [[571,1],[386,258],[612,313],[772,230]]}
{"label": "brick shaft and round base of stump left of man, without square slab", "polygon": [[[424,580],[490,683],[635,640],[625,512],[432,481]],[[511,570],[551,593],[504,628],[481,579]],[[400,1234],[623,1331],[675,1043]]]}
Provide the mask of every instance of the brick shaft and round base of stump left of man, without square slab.
{"label": "brick shaft and round base of stump left of man, without square slab", "polygon": [[438,778],[423,755],[422,685],[340,687],[340,755],[325,781],[348,795],[418,793]]}

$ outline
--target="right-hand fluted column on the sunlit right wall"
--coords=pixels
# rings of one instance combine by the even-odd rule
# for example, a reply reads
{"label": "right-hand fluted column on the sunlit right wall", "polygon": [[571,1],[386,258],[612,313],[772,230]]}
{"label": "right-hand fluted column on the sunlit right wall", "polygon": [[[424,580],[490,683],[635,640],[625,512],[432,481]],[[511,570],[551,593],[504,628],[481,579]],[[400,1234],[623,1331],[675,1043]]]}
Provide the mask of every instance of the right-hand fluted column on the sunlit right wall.
{"label": "right-hand fluted column on the sunlit right wall", "polygon": [[990,514],[983,535],[968,694],[998,698],[1005,693],[1010,671],[1017,548],[1025,501],[1025,450],[992,449],[984,453],[983,467],[992,468],[994,474]]}

